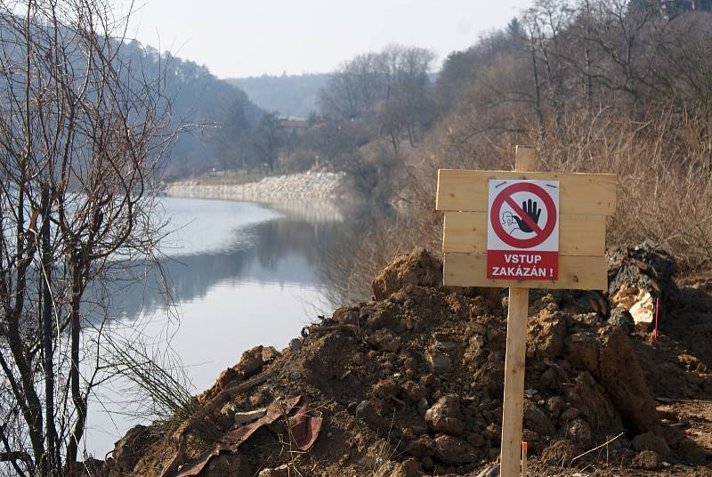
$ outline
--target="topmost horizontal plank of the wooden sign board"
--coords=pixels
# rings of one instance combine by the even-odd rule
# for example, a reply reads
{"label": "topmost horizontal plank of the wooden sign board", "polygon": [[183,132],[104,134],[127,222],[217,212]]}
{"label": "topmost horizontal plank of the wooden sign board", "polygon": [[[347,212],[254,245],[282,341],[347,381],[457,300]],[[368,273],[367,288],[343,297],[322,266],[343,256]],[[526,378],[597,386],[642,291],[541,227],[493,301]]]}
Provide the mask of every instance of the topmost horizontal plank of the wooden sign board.
{"label": "topmost horizontal plank of the wooden sign board", "polygon": [[559,214],[612,215],[616,211],[615,174],[528,173],[440,169],[437,210],[487,212],[490,179],[559,181]]}

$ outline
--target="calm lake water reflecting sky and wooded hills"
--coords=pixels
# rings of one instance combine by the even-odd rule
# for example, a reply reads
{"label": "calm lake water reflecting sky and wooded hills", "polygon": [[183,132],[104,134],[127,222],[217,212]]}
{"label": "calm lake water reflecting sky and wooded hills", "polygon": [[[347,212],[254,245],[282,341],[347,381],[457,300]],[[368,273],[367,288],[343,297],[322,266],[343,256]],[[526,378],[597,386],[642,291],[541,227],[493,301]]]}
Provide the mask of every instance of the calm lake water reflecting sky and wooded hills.
{"label": "calm lake water reflecting sky and wooded hills", "polygon": [[[162,246],[180,326],[155,284],[122,290],[113,327],[170,344],[200,391],[256,344],[284,348],[304,324],[329,311],[317,267],[344,234],[343,211],[313,203],[268,207],[246,202],[163,198],[174,233]],[[120,331],[119,331],[120,332]],[[103,456],[133,423],[120,396],[93,403],[86,450]],[[106,403],[113,400],[113,403]],[[130,409],[129,409],[130,410]]]}

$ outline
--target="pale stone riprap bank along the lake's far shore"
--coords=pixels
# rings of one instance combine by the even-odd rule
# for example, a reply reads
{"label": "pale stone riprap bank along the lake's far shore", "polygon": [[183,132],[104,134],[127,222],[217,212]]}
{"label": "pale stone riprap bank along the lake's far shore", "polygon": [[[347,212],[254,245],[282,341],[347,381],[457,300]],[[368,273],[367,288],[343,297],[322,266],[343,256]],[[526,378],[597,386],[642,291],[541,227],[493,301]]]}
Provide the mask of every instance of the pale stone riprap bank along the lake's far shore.
{"label": "pale stone riprap bank along the lake's far shore", "polygon": [[305,172],[265,177],[245,184],[173,182],[166,186],[166,195],[182,198],[220,198],[279,203],[293,199],[336,198],[344,187],[345,174]]}

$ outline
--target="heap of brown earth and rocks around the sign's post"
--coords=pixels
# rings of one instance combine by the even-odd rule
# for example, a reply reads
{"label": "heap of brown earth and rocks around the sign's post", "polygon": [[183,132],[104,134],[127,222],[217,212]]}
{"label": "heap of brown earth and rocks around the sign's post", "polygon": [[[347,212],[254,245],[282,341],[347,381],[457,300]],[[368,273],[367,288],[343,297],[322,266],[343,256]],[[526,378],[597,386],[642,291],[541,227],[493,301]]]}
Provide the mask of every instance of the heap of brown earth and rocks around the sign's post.
{"label": "heap of brown earth and rocks around the sign's post", "polygon": [[[618,274],[641,270],[631,260],[621,259]],[[656,263],[641,263],[660,277]],[[618,280],[626,287],[633,279]],[[374,279],[374,301],[336,310],[282,352],[246,352],[198,398],[214,412],[142,440],[140,450],[117,446],[115,456],[132,459],[109,460],[105,474],[130,462],[134,475],[166,477],[476,475],[499,454],[506,317],[440,281],[441,264],[425,250],[397,257]],[[681,358],[665,336],[665,349],[653,350],[647,332],[629,334],[608,319],[609,305],[571,311],[572,295],[534,297],[523,423],[532,468],[595,461],[616,475],[634,464],[700,471],[708,451],[684,433],[674,409],[659,413],[653,396],[664,389],[660,379],[678,374],[695,396],[712,391],[705,363]],[[304,433],[316,437],[308,448]]]}

